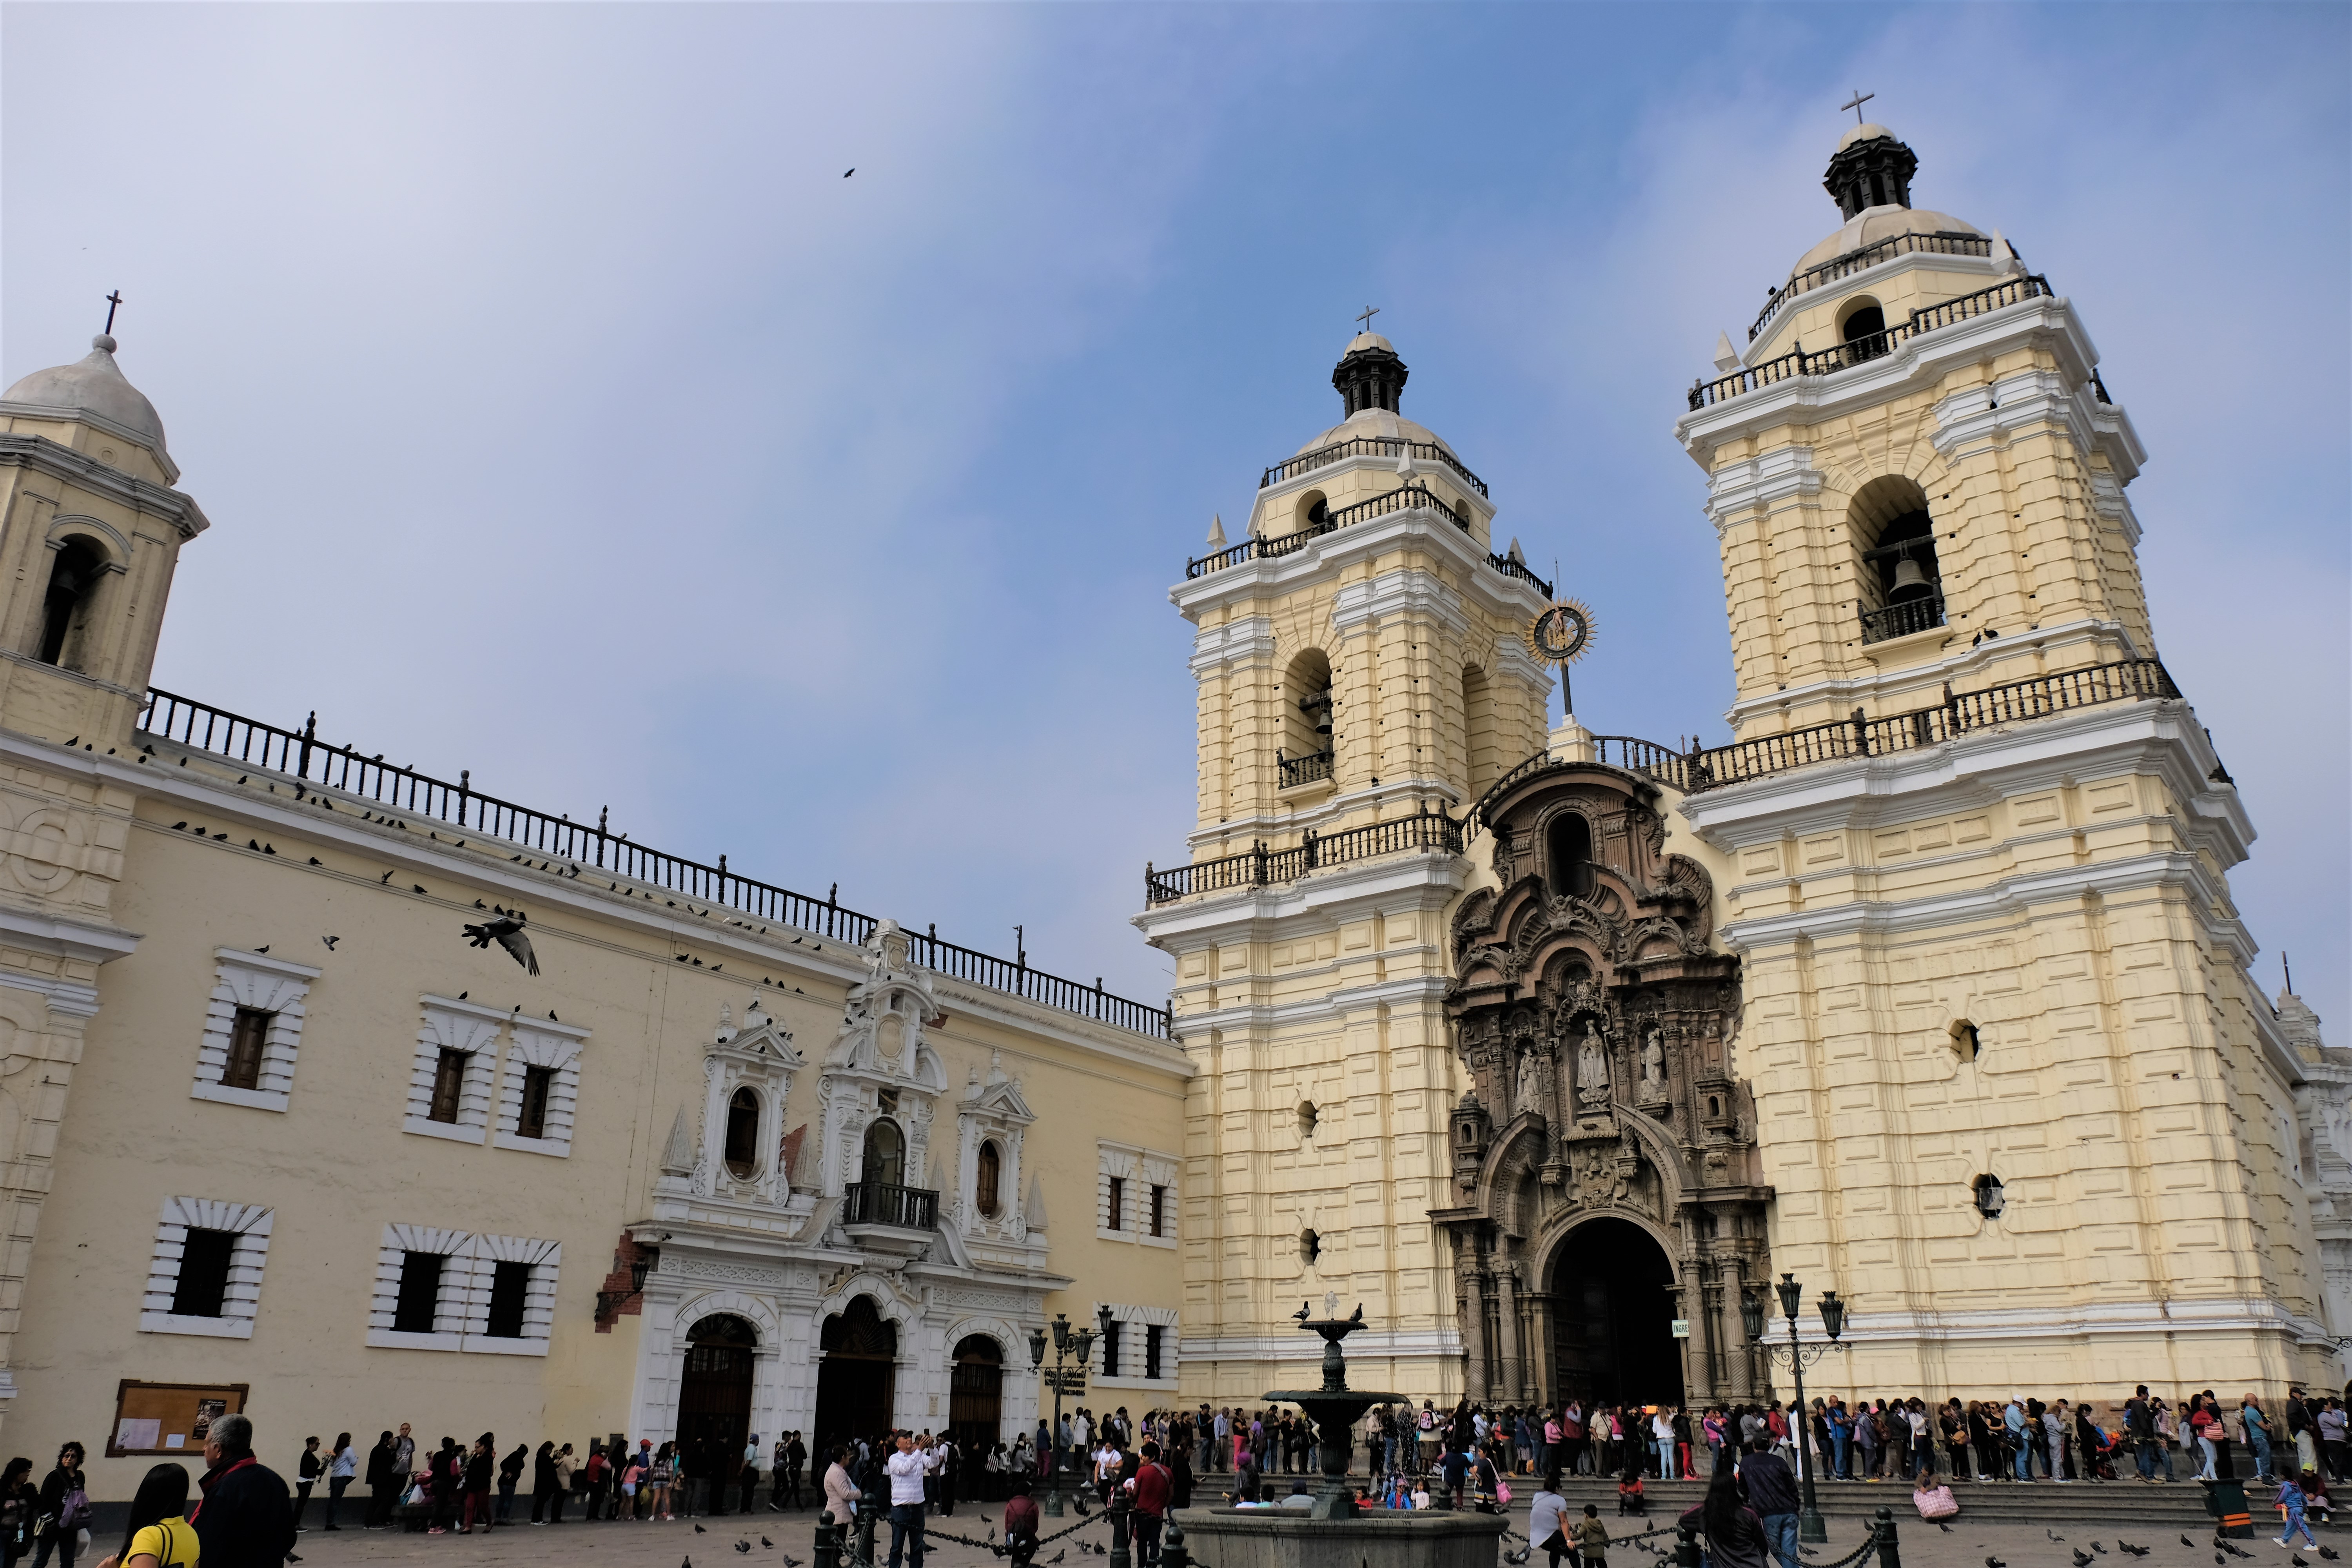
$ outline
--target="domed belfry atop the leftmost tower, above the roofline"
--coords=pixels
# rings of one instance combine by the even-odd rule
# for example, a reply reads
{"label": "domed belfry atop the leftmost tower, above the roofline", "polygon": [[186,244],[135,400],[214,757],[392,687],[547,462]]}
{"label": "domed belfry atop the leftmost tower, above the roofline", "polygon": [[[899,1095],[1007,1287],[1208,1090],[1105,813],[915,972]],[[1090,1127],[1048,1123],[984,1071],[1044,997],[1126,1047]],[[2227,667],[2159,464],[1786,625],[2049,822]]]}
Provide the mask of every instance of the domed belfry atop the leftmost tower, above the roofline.
{"label": "domed belfry atop the leftmost tower, above the roofline", "polygon": [[129,741],[179,548],[207,527],[176,480],[108,334],[0,393],[0,726]]}

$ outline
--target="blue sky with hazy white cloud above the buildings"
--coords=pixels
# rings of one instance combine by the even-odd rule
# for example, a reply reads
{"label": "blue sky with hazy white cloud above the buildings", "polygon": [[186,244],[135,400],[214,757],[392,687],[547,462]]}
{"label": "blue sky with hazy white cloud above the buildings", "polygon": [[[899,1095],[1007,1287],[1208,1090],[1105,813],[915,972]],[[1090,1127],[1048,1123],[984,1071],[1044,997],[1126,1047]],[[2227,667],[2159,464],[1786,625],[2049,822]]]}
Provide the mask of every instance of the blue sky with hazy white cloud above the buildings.
{"label": "blue sky with hazy white cloud above the buildings", "polygon": [[2347,19],[12,5],[0,376],[122,289],[214,520],[158,684],[1157,999],[1167,585],[1367,303],[1599,611],[1581,717],[1724,738],[1672,421],[1860,87],[2082,308],[2258,973],[2352,1044]]}

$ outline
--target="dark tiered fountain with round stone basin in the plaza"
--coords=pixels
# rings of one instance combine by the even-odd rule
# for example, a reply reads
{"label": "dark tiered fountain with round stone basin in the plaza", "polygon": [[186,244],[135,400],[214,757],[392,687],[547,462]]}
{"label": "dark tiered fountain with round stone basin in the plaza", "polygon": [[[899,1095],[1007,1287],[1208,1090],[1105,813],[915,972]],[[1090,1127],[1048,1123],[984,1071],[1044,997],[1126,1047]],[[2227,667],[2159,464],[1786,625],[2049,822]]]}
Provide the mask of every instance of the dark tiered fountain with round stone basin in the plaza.
{"label": "dark tiered fountain with round stone basin in the plaza", "polygon": [[1324,1340],[1319,1389],[1272,1389],[1265,1399],[1291,1403],[1315,1422],[1322,1490],[1305,1509],[1181,1509],[1192,1561],[1202,1568],[1491,1568],[1503,1519],[1451,1509],[1385,1509],[1355,1500],[1348,1455],[1355,1422],[1381,1403],[1404,1406],[1404,1394],[1367,1394],[1348,1387],[1341,1340],[1364,1326],[1364,1309],[1338,1316],[1338,1298],[1324,1295],[1322,1319],[1298,1307],[1298,1326]]}

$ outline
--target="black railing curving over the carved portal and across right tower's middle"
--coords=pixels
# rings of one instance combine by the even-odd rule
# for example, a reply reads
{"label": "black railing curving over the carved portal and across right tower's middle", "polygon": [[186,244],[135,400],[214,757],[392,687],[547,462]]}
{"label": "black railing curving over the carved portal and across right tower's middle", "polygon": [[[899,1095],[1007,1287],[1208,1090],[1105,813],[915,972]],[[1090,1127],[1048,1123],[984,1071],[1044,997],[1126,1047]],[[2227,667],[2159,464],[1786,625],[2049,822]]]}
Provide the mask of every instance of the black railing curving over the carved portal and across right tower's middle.
{"label": "black railing curving over the carved portal and across right tower's middle", "polygon": [[[1778,736],[1733,741],[1731,745],[1668,750],[1653,741],[1632,736],[1595,736],[1597,759],[1630,773],[1649,773],[1658,783],[1698,795],[1724,785],[1766,778],[1816,762],[1844,762],[1849,757],[1886,757],[1891,752],[1915,752],[1943,745],[1973,729],[1994,729],[2025,719],[2046,719],[2077,708],[2105,703],[2178,701],[2180,689],[2154,658],[2124,658],[2112,665],[2084,665],[2056,675],[2034,675],[2020,682],[2004,682],[1980,691],[1952,691],[1945,686],[1943,703],[1915,708],[1910,712],[1870,719],[1860,708],[1851,719],[1813,724]],[[1515,766],[1463,813],[1465,823],[1494,827],[1489,811],[1526,778],[1555,766],[1550,752],[1536,752]]]}

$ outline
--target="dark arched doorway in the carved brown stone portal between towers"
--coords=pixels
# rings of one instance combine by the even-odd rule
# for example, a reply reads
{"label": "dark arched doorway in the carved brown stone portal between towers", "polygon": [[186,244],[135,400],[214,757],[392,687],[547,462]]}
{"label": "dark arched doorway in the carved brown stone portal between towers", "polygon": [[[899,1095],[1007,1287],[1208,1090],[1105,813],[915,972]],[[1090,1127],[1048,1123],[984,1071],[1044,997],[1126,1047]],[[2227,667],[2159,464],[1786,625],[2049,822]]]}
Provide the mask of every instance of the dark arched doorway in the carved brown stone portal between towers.
{"label": "dark arched doorway in the carved brown stone portal between towers", "polygon": [[1588,1220],[1552,1255],[1559,1399],[1682,1403],[1675,1265],[1632,1220]]}

